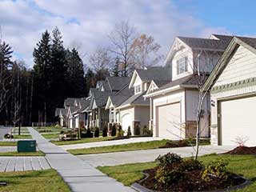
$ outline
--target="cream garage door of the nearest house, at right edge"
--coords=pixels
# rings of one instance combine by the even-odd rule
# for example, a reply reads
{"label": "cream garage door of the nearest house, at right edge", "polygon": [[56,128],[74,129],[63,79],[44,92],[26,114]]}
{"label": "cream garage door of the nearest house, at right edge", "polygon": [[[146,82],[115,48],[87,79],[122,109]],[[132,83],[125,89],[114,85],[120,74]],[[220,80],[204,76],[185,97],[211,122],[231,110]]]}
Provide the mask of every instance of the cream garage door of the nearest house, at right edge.
{"label": "cream garage door of the nearest house, at right edge", "polygon": [[256,145],[256,97],[221,102],[222,145],[237,145],[236,138],[246,139],[246,146]]}

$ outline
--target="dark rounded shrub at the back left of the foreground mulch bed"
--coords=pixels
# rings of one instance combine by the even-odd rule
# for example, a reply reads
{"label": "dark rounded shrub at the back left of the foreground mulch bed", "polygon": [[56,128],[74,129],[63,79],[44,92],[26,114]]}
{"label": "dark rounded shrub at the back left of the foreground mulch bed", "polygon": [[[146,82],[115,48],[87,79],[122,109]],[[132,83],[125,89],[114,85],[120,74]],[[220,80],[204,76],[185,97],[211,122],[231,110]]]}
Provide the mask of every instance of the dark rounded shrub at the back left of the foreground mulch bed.
{"label": "dark rounded shrub at the back left of the foreground mulch bed", "polygon": [[182,158],[178,154],[164,154],[159,155],[158,158],[156,158],[156,161],[158,162],[159,166],[171,166],[171,164],[174,163],[181,163]]}

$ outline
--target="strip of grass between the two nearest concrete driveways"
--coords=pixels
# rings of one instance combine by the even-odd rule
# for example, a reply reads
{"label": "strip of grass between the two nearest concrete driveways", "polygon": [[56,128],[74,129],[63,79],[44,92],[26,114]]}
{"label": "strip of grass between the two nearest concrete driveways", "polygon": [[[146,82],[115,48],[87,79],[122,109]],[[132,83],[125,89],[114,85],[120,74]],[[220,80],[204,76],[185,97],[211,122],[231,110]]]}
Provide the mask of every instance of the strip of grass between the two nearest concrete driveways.
{"label": "strip of grass between the two nearest concrete driveways", "polygon": [[[68,150],[71,154],[104,154],[110,152],[120,152],[120,151],[129,151],[129,150],[151,150],[158,149],[159,147],[165,146],[168,140],[162,139],[159,141],[151,141],[151,142],[134,142],[116,146],[98,146],[84,149],[74,149]],[[192,142],[193,143],[193,142]],[[209,145],[208,140],[203,140],[201,145]]]}

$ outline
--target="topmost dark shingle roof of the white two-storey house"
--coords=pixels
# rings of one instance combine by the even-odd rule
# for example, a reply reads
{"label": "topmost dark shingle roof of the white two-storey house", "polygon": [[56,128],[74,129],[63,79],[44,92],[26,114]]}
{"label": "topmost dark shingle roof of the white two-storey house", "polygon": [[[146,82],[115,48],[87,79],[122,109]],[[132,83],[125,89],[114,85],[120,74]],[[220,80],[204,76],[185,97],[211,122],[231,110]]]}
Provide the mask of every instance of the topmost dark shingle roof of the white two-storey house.
{"label": "topmost dark shingle roof of the white two-storey house", "polygon": [[226,46],[229,45],[230,38],[224,38],[224,36],[219,35],[218,39],[211,38],[188,38],[188,37],[177,37],[182,42],[184,42],[187,46],[190,46],[192,49],[204,49],[204,50],[222,50],[226,49]]}

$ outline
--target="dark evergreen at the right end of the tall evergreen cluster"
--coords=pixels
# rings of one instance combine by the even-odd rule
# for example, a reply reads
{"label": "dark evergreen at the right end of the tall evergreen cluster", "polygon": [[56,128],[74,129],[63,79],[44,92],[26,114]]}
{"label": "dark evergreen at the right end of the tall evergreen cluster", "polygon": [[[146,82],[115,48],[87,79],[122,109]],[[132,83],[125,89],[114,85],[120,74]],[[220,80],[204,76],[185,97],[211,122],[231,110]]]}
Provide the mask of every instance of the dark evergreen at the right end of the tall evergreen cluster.
{"label": "dark evergreen at the right end of the tall evergreen cluster", "polygon": [[68,85],[66,94],[68,97],[84,97],[86,94],[86,81],[84,77],[83,62],[78,54],[78,50],[66,50],[66,60],[68,63]]}

